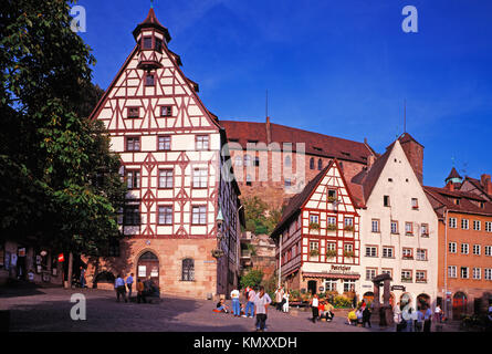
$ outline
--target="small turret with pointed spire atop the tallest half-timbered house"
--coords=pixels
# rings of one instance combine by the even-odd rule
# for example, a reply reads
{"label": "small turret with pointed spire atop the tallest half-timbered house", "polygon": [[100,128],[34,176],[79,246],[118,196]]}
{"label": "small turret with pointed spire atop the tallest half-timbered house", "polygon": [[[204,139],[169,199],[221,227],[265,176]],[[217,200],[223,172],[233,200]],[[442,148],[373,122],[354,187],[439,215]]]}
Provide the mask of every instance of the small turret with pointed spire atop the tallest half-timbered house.
{"label": "small turret with pointed spire atop the tallest half-timbered house", "polygon": [[170,42],[171,37],[156,18],[154,8],[148,11],[147,18],[133,31],[138,45],[138,69],[150,72],[161,67],[160,59],[164,46]]}

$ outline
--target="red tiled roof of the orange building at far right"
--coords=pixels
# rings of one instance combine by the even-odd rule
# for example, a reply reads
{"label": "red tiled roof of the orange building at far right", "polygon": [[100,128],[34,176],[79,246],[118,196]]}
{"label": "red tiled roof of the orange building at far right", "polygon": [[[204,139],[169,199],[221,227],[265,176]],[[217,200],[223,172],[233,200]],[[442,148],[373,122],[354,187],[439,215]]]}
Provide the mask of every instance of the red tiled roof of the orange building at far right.
{"label": "red tiled roof of the orange building at far right", "polygon": [[[443,216],[444,208],[456,212],[492,216],[492,202],[481,198],[475,194],[460,190],[451,191],[446,188],[428,186],[425,186],[423,190],[426,191],[429,201],[433,206],[437,215],[440,217]],[[459,205],[454,202],[456,199],[460,200]],[[483,202],[484,207],[481,208],[473,201]]]}

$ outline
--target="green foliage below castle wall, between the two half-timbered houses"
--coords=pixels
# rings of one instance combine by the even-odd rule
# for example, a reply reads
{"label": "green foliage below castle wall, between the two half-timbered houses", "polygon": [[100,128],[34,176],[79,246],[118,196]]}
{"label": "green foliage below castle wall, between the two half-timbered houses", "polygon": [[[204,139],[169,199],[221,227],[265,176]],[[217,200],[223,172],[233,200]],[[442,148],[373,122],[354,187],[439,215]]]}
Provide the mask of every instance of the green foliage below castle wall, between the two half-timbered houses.
{"label": "green foliage below castle wall, between the two half-timbered houses", "polygon": [[243,198],[247,231],[255,235],[270,235],[279,223],[282,212],[279,209],[269,210],[269,205],[259,197]]}

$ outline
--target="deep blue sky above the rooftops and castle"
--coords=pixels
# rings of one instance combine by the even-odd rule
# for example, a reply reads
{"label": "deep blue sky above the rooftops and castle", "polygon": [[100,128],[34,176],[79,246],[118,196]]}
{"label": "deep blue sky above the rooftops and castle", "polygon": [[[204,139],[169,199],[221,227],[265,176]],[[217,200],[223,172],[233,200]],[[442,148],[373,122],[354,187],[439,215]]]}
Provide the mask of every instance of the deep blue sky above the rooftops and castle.
{"label": "deep blue sky above the rooftops and castle", "polygon": [[[221,119],[272,122],[368,143],[404,129],[425,145],[423,181],[451,167],[492,173],[492,2],[489,0],[155,0],[185,74]],[[150,1],[80,0],[84,41],[106,88]],[[405,6],[418,33],[405,33]]]}

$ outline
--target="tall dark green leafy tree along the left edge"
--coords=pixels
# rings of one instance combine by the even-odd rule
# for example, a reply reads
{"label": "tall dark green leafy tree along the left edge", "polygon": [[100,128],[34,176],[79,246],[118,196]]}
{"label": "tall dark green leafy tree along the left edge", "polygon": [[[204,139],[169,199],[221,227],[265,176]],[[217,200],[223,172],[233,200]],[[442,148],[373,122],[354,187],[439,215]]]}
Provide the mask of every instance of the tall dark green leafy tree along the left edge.
{"label": "tall dark green leafy tree along the left edge", "polygon": [[98,254],[118,237],[119,157],[88,112],[91,49],[72,1],[7,0],[0,13],[0,237]]}

